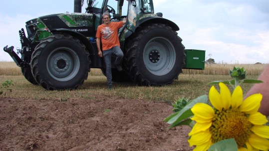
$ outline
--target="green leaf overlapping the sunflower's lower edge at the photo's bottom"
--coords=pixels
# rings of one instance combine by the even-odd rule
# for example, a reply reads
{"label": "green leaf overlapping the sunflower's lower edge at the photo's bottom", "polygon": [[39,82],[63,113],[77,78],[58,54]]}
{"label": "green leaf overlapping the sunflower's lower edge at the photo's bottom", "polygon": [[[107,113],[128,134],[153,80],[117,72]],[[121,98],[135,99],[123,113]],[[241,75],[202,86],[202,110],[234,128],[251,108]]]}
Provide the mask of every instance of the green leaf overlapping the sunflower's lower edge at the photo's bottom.
{"label": "green leaf overlapping the sunflower's lower edge at the photo's bottom", "polygon": [[235,139],[222,140],[213,144],[208,151],[237,151],[238,146]]}

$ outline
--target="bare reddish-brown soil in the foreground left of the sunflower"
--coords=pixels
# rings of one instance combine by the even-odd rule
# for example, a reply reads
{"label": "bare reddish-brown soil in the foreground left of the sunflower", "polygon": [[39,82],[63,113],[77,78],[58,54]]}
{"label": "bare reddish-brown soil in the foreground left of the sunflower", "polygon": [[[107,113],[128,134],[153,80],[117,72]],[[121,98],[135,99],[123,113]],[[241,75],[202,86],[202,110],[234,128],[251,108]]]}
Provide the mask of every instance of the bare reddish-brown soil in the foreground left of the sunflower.
{"label": "bare reddish-brown soil in the foreground left of the sunflower", "polygon": [[0,98],[0,151],[192,151],[189,127],[162,122],[172,106],[100,97]]}

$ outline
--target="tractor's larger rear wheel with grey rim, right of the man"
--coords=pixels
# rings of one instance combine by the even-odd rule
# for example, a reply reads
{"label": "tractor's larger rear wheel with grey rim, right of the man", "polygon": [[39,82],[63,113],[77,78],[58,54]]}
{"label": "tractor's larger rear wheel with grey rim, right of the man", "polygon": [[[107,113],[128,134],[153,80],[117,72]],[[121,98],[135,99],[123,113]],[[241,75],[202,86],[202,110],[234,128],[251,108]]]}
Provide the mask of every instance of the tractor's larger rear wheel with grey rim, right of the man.
{"label": "tractor's larger rear wheel with grey rim, right of the man", "polygon": [[184,46],[170,26],[149,24],[128,39],[123,65],[130,78],[141,85],[166,85],[182,72]]}

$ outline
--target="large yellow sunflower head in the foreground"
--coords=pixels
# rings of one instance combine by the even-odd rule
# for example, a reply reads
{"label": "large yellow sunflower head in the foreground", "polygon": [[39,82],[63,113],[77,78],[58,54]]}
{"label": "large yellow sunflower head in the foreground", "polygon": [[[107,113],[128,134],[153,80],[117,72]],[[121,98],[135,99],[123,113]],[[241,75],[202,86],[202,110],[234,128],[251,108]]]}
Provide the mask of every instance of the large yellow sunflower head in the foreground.
{"label": "large yellow sunflower head in the foreground", "polygon": [[225,139],[236,140],[238,151],[268,151],[269,126],[266,116],[258,112],[263,96],[254,94],[243,101],[243,91],[237,86],[231,95],[224,83],[220,93],[214,86],[209,91],[209,100],[214,109],[197,103],[191,109],[196,121],[189,133],[190,146],[194,151],[207,151],[214,143]]}

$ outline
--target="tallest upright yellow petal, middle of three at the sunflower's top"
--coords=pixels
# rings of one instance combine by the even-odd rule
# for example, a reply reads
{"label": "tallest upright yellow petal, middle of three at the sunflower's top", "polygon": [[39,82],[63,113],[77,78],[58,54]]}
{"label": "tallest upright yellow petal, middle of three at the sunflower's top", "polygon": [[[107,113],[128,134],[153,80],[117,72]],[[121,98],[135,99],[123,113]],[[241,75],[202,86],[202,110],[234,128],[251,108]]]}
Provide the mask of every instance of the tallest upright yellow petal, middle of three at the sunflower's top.
{"label": "tallest upright yellow petal, middle of three at the sunflower's top", "polygon": [[221,94],[221,101],[222,101],[222,106],[224,109],[229,109],[231,106],[231,92],[229,88],[222,82],[220,82],[220,94]]}

